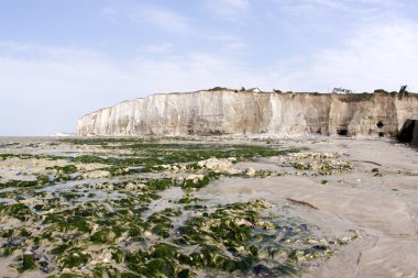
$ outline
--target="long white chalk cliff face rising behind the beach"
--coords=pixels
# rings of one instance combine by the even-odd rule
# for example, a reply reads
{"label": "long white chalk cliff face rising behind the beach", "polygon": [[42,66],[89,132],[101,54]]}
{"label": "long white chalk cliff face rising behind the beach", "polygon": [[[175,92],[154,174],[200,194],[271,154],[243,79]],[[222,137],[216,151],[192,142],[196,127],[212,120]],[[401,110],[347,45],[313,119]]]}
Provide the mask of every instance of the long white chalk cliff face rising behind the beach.
{"label": "long white chalk cliff face rising behind the beach", "polygon": [[197,91],[154,94],[100,109],[79,135],[305,134],[393,135],[418,119],[418,98],[362,94]]}

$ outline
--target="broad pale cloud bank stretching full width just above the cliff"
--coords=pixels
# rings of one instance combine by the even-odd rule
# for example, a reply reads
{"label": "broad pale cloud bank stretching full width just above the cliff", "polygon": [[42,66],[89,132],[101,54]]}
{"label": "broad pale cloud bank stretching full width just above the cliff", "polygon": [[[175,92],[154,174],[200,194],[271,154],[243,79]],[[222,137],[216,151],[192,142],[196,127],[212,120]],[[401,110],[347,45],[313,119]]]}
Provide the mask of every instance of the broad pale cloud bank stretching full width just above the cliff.
{"label": "broad pale cloud bank stretching full width just above the cliff", "polygon": [[[241,43],[228,35],[208,40]],[[121,64],[76,46],[0,42],[0,97],[6,103],[0,126],[9,134],[13,130],[37,135],[74,131],[84,113],[125,99],[215,86],[295,91],[342,86],[371,91],[397,90],[407,84],[418,91],[416,45],[418,23],[404,20],[363,25],[342,42],[342,47],[328,46],[310,56],[275,63],[272,57],[272,63],[261,67],[230,53],[172,52],[169,43],[146,48],[164,55],[141,52]]]}

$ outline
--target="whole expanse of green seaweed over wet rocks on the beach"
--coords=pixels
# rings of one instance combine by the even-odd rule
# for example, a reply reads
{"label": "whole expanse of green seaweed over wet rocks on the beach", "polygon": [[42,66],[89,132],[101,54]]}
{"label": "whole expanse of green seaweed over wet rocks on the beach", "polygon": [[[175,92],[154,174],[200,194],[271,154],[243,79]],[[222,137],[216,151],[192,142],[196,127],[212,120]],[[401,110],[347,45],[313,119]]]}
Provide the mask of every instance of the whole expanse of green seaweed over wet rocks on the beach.
{"label": "whole expanse of green seaweed over wet rocks on the beach", "polygon": [[[221,175],[233,176],[201,167],[198,164],[201,160],[211,157],[254,160],[298,149],[280,149],[274,144],[166,144],[155,138],[133,137],[62,142],[97,146],[100,152],[65,157],[66,166],[48,168],[51,177],[37,175],[33,185],[0,193],[1,198],[18,202],[35,197],[34,204],[29,207],[23,203],[31,202],[0,204],[2,215],[14,215],[22,221],[18,229],[0,230],[1,240],[14,244],[3,244],[1,256],[15,256],[21,253],[14,251],[30,248],[35,254],[31,255],[35,265],[30,264],[30,257],[26,265],[53,274],[51,277],[183,278],[201,273],[213,277],[274,277],[295,274],[300,268],[299,260],[332,255],[326,244],[307,243],[302,238],[311,227],[299,226],[297,221],[282,225],[276,215],[268,213],[270,204],[263,200],[213,207],[189,190],[199,190]],[[107,152],[112,149],[123,151],[123,154]],[[24,157],[58,159],[58,156],[45,155],[20,158]],[[38,186],[79,179],[84,168],[91,168],[79,167],[79,164],[91,163],[102,164],[96,170],[107,170],[118,178],[63,184],[52,193],[35,190]],[[143,175],[145,173],[150,174]],[[177,173],[187,174],[189,178],[183,181],[174,178],[172,174]],[[255,176],[270,174],[258,171]],[[150,211],[154,210],[154,207],[148,208],[150,203],[175,186],[185,189],[184,196],[169,199],[169,208],[164,205],[161,211]],[[183,222],[179,216],[184,211]],[[344,241],[334,242],[344,244]],[[294,249],[302,251],[305,258],[293,259],[298,258],[292,253]],[[56,266],[54,273],[52,265]],[[64,269],[72,273],[64,274]]]}

